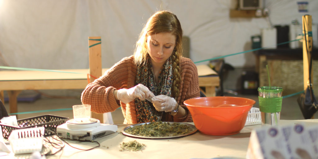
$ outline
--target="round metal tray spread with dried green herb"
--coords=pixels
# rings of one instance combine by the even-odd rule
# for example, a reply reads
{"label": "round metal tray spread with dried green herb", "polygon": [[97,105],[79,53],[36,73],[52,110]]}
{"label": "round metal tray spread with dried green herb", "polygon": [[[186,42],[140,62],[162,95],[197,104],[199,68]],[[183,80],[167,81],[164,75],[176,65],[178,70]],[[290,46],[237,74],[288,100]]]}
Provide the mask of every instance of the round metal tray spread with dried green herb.
{"label": "round metal tray spread with dried green herb", "polygon": [[145,123],[143,125],[129,127],[125,130],[125,132],[137,136],[168,137],[188,134],[194,129],[195,128],[193,127],[189,127],[180,123],[171,124],[169,122],[157,121],[151,122],[149,124]]}

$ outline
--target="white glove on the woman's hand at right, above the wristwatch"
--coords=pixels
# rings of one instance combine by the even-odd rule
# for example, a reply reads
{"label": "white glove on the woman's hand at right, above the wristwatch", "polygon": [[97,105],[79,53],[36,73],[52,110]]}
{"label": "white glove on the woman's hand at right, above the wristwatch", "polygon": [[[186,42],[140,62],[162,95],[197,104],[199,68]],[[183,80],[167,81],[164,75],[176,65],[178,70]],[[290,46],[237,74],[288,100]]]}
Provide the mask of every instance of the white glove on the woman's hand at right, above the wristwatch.
{"label": "white glove on the woman's hand at right, above the wristwatch", "polygon": [[177,108],[177,102],[174,98],[166,95],[155,96],[151,99],[157,111],[171,112]]}

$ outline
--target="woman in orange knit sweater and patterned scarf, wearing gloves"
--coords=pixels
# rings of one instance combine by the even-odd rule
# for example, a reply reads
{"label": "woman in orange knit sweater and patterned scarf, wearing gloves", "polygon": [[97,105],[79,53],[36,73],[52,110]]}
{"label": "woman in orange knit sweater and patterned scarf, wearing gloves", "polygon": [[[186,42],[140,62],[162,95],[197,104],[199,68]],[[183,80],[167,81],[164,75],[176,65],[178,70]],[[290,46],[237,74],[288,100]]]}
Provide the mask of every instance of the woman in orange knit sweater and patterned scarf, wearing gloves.
{"label": "woman in orange knit sweater and patterned scarf, wearing gloves", "polygon": [[181,40],[176,15],[156,12],[142,29],[134,55],[88,84],[82,103],[91,105],[96,113],[113,112],[121,106],[125,124],[192,122],[183,101],[200,96],[197,67],[182,57]]}

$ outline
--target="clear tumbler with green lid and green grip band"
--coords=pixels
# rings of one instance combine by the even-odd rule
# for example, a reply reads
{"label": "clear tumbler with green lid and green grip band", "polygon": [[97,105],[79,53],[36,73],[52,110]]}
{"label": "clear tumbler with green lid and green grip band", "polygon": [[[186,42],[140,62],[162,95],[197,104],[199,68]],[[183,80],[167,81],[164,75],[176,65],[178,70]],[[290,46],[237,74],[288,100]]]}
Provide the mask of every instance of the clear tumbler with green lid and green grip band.
{"label": "clear tumbler with green lid and green grip band", "polygon": [[262,125],[278,125],[283,99],[283,88],[264,86],[259,87],[258,91]]}

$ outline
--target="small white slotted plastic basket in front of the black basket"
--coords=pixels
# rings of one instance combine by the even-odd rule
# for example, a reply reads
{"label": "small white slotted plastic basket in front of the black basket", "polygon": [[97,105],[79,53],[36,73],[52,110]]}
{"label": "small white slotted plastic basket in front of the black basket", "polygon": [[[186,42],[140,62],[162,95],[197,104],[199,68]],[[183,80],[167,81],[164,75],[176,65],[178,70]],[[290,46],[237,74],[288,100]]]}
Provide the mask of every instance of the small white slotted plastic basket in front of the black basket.
{"label": "small white slotted plastic basket in front of the black basket", "polygon": [[9,136],[14,154],[40,152],[43,146],[44,126],[13,130]]}

